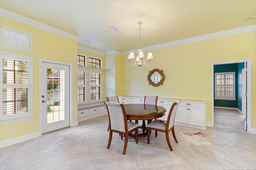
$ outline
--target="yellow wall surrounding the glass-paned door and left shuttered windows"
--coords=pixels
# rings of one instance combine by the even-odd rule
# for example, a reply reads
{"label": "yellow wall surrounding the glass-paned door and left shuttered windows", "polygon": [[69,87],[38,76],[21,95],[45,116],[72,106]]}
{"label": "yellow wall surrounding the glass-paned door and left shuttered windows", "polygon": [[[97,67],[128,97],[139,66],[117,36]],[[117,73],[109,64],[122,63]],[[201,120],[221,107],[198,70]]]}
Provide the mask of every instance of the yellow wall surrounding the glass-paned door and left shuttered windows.
{"label": "yellow wall surrounding the glass-paned door and left shuttered windows", "polygon": [[[73,66],[72,76],[73,76],[73,89],[72,93],[77,93],[77,42],[38,29],[17,21],[9,20],[7,18],[0,17],[1,25],[18,29],[21,31],[26,31],[32,33],[33,36],[33,54],[19,53],[14,51],[8,51],[1,49],[1,52],[14,53],[23,56],[30,56],[33,58],[33,119],[17,121],[13,123],[6,123],[0,125],[0,141],[7,139],[12,139],[15,137],[20,137],[22,135],[27,135],[30,133],[35,133],[39,131],[39,101],[41,100],[39,96],[40,84],[40,70],[39,70],[39,59],[47,59],[53,61],[61,61],[65,63],[71,63]],[[73,95],[73,122],[77,121],[77,96]]]}

